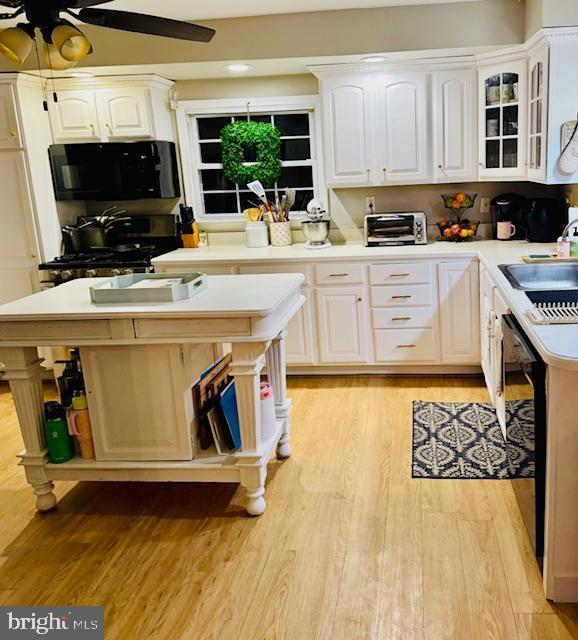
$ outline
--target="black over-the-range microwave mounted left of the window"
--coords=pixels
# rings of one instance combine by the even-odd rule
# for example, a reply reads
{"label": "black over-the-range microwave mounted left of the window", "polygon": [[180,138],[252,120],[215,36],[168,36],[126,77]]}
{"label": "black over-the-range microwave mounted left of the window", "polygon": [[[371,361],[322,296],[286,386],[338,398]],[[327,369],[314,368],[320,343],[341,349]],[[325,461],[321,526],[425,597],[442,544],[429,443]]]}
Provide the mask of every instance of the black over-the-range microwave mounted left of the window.
{"label": "black over-the-range microwave mounted left of the window", "polygon": [[48,154],[57,200],[140,200],[181,195],[173,142],[55,144]]}

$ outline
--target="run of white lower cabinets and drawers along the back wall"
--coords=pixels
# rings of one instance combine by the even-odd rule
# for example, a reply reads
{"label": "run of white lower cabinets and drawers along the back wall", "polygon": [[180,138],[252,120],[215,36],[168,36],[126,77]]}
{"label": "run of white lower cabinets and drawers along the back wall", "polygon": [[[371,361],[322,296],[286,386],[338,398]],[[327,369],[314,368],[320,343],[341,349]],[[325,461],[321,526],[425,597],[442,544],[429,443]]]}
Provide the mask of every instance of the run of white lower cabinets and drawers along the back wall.
{"label": "run of white lower cabinets and drawers along the back wall", "polygon": [[259,273],[263,277],[302,273],[306,303],[287,327],[287,363],[295,368],[343,366],[346,373],[350,364],[479,365],[477,265],[474,259],[334,262],[313,258],[309,263],[256,261],[251,265],[191,262],[160,271]]}

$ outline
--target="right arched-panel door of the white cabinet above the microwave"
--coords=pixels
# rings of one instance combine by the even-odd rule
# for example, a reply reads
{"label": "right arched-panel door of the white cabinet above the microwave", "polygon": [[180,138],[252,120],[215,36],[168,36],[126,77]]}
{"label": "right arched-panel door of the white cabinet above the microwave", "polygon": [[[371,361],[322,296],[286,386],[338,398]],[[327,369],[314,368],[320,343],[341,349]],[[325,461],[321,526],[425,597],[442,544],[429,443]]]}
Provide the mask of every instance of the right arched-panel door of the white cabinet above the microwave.
{"label": "right arched-panel door of the white cabinet above the microwave", "polygon": [[106,137],[154,138],[146,89],[99,91],[98,100]]}

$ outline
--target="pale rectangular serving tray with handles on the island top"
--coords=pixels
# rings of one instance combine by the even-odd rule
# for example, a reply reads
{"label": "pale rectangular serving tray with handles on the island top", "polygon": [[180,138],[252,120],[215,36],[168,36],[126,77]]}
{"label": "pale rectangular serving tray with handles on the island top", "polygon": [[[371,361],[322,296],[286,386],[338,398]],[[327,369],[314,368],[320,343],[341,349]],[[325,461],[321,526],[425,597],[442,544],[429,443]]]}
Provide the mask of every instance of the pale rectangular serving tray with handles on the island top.
{"label": "pale rectangular serving tray with handles on the island top", "polygon": [[[147,287],[130,289],[141,280],[168,280],[182,278],[180,284],[170,287]],[[116,276],[90,287],[90,299],[95,304],[115,302],[175,302],[185,300],[207,287],[207,276],[203,273],[133,273]]]}

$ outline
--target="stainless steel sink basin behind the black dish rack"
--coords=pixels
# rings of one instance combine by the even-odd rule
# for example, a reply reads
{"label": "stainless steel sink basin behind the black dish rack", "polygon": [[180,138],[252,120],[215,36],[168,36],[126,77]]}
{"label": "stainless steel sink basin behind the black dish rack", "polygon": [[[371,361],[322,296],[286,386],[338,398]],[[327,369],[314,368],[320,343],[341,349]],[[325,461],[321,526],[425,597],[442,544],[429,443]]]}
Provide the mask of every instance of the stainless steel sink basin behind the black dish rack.
{"label": "stainless steel sink basin behind the black dish rack", "polygon": [[578,289],[578,263],[501,264],[499,269],[514,289]]}

